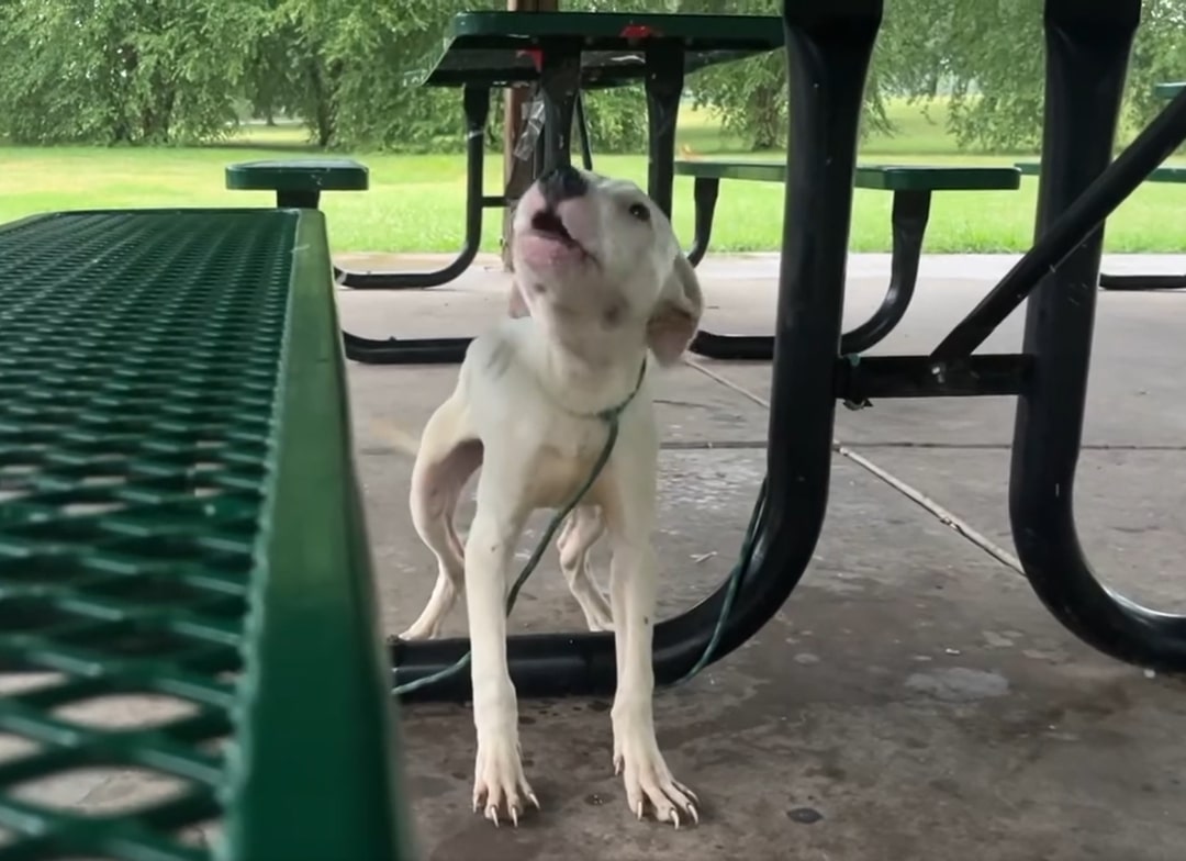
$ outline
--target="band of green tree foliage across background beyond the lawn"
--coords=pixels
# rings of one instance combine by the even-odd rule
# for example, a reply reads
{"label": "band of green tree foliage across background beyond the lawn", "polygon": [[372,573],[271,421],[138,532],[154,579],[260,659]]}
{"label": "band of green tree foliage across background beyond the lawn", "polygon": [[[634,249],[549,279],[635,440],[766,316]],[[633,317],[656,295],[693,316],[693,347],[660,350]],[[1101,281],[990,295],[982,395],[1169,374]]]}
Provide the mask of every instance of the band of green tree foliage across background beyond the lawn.
{"label": "band of green tree foliage across background beyond the lawn", "polygon": [[[567,11],[777,14],[782,0],[561,0]],[[1042,0],[887,0],[863,127],[891,98],[935,100],[961,146],[1033,146],[1042,106]],[[1186,76],[1186,6],[1144,0],[1126,110]],[[505,0],[0,0],[0,136],[23,144],[210,141],[251,116],[298,117],[321,146],[460,147],[453,90],[414,85],[461,9]],[[693,75],[688,89],[755,149],[786,133],[773,52]],[[599,151],[645,142],[639,85],[586,96]],[[491,142],[502,100],[491,101]]]}

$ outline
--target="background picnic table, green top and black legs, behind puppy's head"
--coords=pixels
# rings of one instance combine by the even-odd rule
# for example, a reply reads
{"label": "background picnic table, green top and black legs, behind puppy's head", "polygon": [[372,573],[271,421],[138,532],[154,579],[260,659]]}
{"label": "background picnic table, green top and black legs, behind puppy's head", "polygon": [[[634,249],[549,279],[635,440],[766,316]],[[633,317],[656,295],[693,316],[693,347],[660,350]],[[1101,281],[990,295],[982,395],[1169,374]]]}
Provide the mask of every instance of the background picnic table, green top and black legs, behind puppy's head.
{"label": "background picnic table, green top and black legs, behind puppy's head", "polygon": [[[568,164],[572,129],[582,89],[642,81],[648,114],[646,191],[668,215],[674,185],[675,132],[687,75],[783,45],[774,15],[612,14],[584,12],[466,12],[455,15],[439,51],[414,82],[460,87],[472,144],[468,162],[466,240],[461,255],[433,283],[470,266],[482,234],[482,209],[510,202],[482,190],[482,140],[489,93],[496,87],[538,85],[544,106],[542,167]],[[479,110],[480,108],[480,110]],[[419,274],[343,273],[349,287],[422,286]],[[471,338],[349,336],[350,358],[372,363],[460,362]]]}

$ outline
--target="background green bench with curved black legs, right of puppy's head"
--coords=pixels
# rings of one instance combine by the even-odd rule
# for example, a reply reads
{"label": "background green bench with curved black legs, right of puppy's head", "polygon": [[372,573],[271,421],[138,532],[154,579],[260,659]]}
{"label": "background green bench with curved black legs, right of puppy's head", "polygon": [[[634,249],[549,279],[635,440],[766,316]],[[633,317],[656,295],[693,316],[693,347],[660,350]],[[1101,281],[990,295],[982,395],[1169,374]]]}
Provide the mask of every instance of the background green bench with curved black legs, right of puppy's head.
{"label": "background green bench with curved black legs, right of puppy's head", "polygon": [[[713,218],[721,180],[786,183],[785,161],[678,160],[676,176],[694,179],[695,232],[688,260],[700,263],[713,234]],[[841,339],[841,352],[865,352],[885,338],[901,320],[914,295],[918,266],[923,256],[923,238],[936,191],[1012,191],[1021,185],[1014,167],[943,167],[930,165],[857,165],[854,176],[857,189],[875,189],[893,193],[893,255],[890,286],[881,306],[873,315]],[[708,334],[702,352],[720,358],[770,361],[774,340],[763,334]]]}

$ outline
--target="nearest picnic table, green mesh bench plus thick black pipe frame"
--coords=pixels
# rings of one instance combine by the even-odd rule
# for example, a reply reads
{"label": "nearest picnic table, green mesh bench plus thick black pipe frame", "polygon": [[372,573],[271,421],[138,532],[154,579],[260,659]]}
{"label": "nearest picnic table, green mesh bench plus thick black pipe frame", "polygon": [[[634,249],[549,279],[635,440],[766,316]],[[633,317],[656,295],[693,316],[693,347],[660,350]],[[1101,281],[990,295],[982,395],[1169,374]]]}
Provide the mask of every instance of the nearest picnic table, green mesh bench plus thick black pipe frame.
{"label": "nearest picnic table, green mesh bench plus thick black pipe frame", "polygon": [[[930,351],[841,356],[882,1],[785,4],[793,193],[761,516],[739,578],[655,625],[659,684],[709,642],[713,661],[726,657],[784,605],[823,525],[836,401],[885,397],[1018,396],[1009,517],[1038,597],[1107,655],[1186,670],[1186,617],[1101,585],[1072,511],[1098,227],[1186,140],[1179,95],[1112,159],[1140,12],[1140,0],[1046,0],[1033,247]],[[468,643],[395,642],[383,680],[330,272],[312,209],[69,212],[0,228],[0,661],[58,674],[0,699],[0,733],[23,742],[0,758],[0,861],[413,857],[387,691],[453,665]],[[1022,301],[1021,351],[976,352]],[[515,636],[508,657],[519,696],[616,683],[608,633]],[[189,710],[107,729],[62,714],[140,693]],[[470,694],[463,672],[414,696]],[[181,790],[101,816],[23,792],[110,766]],[[224,827],[217,853],[183,834],[208,821]]]}

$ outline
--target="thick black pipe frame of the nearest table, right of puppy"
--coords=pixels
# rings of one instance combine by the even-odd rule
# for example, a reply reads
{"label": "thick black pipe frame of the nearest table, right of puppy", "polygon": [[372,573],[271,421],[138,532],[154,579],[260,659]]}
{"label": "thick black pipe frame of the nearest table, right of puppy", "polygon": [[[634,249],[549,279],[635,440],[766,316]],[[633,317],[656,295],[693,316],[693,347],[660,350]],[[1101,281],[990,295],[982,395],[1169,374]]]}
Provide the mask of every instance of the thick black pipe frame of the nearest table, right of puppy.
{"label": "thick black pipe frame of the nearest table, right of puppy", "polygon": [[[997,302],[1002,295],[1032,292],[1022,353],[937,350],[932,356],[861,361],[848,361],[839,351],[856,120],[881,0],[837,0],[811,9],[788,6],[783,20],[791,146],[769,427],[769,439],[778,445],[767,451],[769,496],[753,567],[713,659],[741,645],[777,612],[810,561],[828,500],[836,397],[861,404],[873,395],[1019,394],[1009,512],[1034,591],[1070,631],[1105,653],[1186,670],[1186,618],[1146,610],[1102,586],[1083,556],[1071,510],[1103,242],[1098,223],[1136,173],[1123,164],[1111,178],[1107,171],[1140,0],[1046,2],[1042,170],[1035,248],[1027,256],[1042,260],[1053,254],[1061,262],[1053,270],[1034,272],[1028,289],[1014,276],[993,292]],[[1150,164],[1167,145],[1158,129],[1173,126],[1179,110],[1180,103],[1173,102],[1153,132],[1139,138],[1130,164]],[[1092,189],[1095,194],[1088,194]],[[1070,241],[1067,213],[1080,234],[1070,237],[1073,250],[1065,255],[1057,251]],[[982,330],[977,324],[962,331]],[[656,626],[659,684],[682,677],[700,657],[718,623],[723,592],[722,586]],[[465,639],[396,642],[395,681],[436,672],[467,648]],[[522,696],[607,694],[614,685],[612,634],[517,636],[509,639],[508,655]],[[468,677],[458,674],[414,699],[461,700],[468,694]]]}

